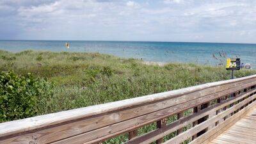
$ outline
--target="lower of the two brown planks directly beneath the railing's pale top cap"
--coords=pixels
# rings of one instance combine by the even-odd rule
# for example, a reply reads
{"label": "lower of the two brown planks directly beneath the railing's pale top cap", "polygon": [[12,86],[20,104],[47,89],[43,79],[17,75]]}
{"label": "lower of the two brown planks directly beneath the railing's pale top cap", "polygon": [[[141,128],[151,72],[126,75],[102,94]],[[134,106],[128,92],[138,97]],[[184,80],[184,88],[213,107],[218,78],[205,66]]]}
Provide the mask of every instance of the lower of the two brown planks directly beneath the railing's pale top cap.
{"label": "lower of the two brown planks directly beneath the railing's pale top cap", "polygon": [[[242,86],[243,87],[243,86]],[[231,89],[230,89],[231,90]],[[225,91],[222,91],[226,93]],[[124,123],[118,123],[115,125],[110,125],[108,127],[104,127],[102,129],[97,129],[95,131],[90,131],[84,134],[80,134],[71,138],[67,138],[65,140],[58,141],[56,143],[72,143],[72,141],[76,141],[76,143],[87,143],[87,141],[100,141],[100,140],[105,140],[107,138],[111,138],[112,136],[115,136],[117,134],[121,134],[125,131],[129,131],[131,129],[136,129],[137,127],[140,127],[141,125],[149,124],[152,122],[156,122],[157,120],[161,120],[165,118],[166,116],[173,115],[175,113],[178,113],[180,111],[184,111],[189,108],[193,108],[195,104],[197,103],[204,103],[208,102],[209,100],[216,99],[214,96],[207,96],[207,97],[202,97],[200,99],[195,99],[195,100],[190,100],[187,103],[182,103],[182,104],[177,104],[176,106],[173,106],[173,108],[166,108],[162,109],[160,111],[156,111],[154,113],[150,113],[148,115],[143,115],[139,116],[137,118],[132,118],[130,120],[125,121]],[[129,125],[130,124],[130,125]],[[111,127],[111,129],[110,129]],[[129,127],[129,128],[127,128]],[[109,133],[109,131],[111,131]],[[116,133],[115,133],[116,131]],[[100,138],[100,136],[102,138]],[[105,134],[105,137],[103,136]]]}

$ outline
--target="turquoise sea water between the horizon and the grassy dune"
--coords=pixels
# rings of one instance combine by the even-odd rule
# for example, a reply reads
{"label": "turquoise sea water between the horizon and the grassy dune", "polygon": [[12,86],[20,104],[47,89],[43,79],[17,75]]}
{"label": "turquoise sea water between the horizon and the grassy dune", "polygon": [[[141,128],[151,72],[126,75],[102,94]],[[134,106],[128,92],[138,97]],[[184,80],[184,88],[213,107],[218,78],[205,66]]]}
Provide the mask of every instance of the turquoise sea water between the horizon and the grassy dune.
{"label": "turquoise sea water between the horizon and the grassy dune", "polygon": [[[70,49],[65,48],[65,43]],[[239,57],[241,62],[256,67],[256,44],[223,44],[194,42],[110,42],[110,41],[41,41],[0,40],[0,49],[12,52],[27,49],[40,51],[100,52],[123,58],[145,61],[200,63],[216,65],[212,54],[224,51],[228,57]]]}

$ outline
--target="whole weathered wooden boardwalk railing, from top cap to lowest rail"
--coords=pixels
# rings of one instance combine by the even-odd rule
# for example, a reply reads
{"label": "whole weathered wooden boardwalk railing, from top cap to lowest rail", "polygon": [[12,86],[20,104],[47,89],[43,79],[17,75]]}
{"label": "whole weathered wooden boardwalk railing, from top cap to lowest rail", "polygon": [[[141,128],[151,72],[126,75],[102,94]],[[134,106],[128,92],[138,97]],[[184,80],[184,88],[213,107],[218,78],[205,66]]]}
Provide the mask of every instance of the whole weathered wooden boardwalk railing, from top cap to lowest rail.
{"label": "whole weathered wooden boardwalk railing, from top cap to lowest rail", "polygon": [[0,143],[207,143],[256,106],[255,85],[256,75],[6,122]]}

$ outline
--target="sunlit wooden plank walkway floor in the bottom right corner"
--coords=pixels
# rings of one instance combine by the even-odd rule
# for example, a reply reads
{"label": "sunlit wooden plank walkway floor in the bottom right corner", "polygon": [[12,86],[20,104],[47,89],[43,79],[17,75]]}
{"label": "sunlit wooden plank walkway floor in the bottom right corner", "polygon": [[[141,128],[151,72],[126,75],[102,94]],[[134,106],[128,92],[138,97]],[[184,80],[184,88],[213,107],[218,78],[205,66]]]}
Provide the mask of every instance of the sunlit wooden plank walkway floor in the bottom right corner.
{"label": "sunlit wooden plank walkway floor in the bottom right corner", "polygon": [[209,144],[256,143],[256,108]]}

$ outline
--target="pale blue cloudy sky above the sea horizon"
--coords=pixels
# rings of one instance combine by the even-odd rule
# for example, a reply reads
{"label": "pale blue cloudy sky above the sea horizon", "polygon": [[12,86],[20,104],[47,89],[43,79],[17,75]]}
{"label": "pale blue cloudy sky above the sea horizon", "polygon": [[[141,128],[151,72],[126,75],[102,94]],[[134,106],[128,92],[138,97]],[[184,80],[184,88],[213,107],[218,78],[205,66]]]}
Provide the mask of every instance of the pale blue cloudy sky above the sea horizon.
{"label": "pale blue cloudy sky above the sea horizon", "polygon": [[0,39],[256,43],[256,1],[0,0]]}

